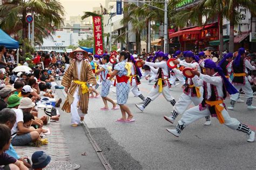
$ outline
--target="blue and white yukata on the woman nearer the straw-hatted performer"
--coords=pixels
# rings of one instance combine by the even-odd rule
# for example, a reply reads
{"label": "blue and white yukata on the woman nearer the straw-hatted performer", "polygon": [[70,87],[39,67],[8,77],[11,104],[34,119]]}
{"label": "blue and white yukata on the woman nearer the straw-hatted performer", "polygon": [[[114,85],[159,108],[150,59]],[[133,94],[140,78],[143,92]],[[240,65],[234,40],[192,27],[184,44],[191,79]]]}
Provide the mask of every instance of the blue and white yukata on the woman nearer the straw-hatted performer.
{"label": "blue and white yukata on the woman nearer the straw-hatted performer", "polygon": [[107,95],[109,95],[109,90],[111,86],[111,81],[107,79],[107,73],[109,73],[107,67],[107,64],[104,64],[102,66],[104,71],[100,72],[100,78],[102,79],[102,92],[100,93],[101,97],[107,97]]}

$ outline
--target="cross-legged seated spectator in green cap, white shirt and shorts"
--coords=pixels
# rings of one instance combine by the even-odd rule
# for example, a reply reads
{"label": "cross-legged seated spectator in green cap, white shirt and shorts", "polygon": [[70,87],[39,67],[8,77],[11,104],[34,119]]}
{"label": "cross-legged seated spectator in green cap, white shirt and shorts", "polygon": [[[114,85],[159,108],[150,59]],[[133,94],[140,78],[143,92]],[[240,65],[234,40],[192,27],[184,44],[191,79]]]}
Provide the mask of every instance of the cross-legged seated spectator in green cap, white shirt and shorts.
{"label": "cross-legged seated spectator in green cap, white shirt and shorts", "polygon": [[[14,146],[23,146],[29,144],[31,141],[36,141],[39,138],[39,134],[42,133],[42,128],[30,129],[23,125],[23,112],[18,108],[21,99],[16,95],[12,94],[8,98],[7,107],[12,108],[16,113],[16,123],[12,128],[12,141],[11,144]],[[17,131],[24,133],[23,135],[17,135]]]}

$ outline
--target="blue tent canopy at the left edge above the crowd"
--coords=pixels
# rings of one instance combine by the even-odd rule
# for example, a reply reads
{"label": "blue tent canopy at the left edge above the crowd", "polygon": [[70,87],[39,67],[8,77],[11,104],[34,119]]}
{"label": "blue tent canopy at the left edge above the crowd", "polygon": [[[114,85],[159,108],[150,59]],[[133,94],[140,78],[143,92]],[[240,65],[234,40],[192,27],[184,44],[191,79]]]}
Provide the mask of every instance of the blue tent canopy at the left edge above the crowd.
{"label": "blue tent canopy at the left edge above the crowd", "polygon": [[11,38],[7,33],[0,29],[0,45],[4,45],[6,49],[18,49],[19,42]]}

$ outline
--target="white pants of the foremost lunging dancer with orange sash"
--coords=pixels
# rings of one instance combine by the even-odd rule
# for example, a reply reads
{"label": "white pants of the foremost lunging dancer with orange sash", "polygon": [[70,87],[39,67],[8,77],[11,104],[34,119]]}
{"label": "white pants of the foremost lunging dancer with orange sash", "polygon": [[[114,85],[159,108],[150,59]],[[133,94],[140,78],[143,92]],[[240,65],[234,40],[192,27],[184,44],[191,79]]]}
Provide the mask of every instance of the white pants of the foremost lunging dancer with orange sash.
{"label": "white pants of the foremost lunging dancer with orange sash", "polygon": [[[223,105],[221,105],[223,106]],[[208,108],[206,107],[205,110],[200,111],[199,110],[199,106],[194,106],[192,108],[190,108],[189,110],[187,110],[181,117],[181,119],[178,121],[179,125],[184,125],[185,127],[191,123],[193,123],[194,121],[200,119],[200,118],[204,118],[207,115],[210,115],[210,111],[208,110]],[[230,115],[228,114],[228,112],[225,110],[221,111],[221,114],[223,115],[223,118],[225,120],[225,125],[229,128],[232,128],[232,130],[237,130],[240,121],[238,121],[235,118],[231,118]]]}

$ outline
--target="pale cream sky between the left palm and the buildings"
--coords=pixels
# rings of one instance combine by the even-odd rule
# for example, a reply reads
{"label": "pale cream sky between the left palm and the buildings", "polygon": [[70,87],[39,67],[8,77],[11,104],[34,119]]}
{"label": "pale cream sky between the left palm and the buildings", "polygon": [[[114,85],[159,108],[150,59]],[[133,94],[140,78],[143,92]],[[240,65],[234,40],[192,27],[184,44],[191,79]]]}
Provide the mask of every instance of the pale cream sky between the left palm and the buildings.
{"label": "pale cream sky between the left palm and the buildings", "polygon": [[59,0],[65,9],[65,18],[69,19],[70,16],[82,16],[84,11],[92,12],[92,8],[104,6],[105,0]]}

